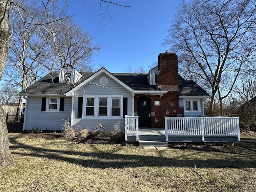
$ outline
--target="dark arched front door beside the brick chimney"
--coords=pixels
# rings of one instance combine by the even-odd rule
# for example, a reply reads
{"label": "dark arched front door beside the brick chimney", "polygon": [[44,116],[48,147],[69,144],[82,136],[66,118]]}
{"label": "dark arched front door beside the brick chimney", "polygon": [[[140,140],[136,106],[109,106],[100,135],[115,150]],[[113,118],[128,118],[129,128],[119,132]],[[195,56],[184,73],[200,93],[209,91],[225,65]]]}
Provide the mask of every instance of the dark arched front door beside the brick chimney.
{"label": "dark arched front door beside the brick chimney", "polygon": [[151,127],[151,102],[147,97],[138,99],[138,116],[140,127]]}

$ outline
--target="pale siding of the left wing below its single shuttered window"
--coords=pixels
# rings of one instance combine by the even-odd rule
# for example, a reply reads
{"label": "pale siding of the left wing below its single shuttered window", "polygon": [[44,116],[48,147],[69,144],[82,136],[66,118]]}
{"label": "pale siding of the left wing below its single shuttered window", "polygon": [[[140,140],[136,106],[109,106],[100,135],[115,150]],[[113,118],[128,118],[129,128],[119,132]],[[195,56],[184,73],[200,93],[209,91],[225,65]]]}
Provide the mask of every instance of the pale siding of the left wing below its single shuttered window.
{"label": "pale siding of the left wing below its single shuttered window", "polygon": [[[24,119],[24,127],[26,131],[32,130],[34,126],[38,126],[42,131],[61,130],[64,120],[71,120],[71,104],[72,98],[64,98],[64,111],[50,113],[41,111],[42,97],[28,97],[26,100],[26,114]],[[46,106],[46,109],[48,107]],[[64,120],[62,120],[64,119]],[[26,122],[25,122],[26,121]]]}

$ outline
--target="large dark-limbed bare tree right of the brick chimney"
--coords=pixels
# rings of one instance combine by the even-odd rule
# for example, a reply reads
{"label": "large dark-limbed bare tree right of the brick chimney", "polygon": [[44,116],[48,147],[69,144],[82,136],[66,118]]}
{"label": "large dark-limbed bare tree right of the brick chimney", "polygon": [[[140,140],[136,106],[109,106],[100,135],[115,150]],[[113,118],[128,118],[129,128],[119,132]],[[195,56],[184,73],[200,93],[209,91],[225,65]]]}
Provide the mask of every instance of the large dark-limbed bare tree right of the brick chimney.
{"label": "large dark-limbed bare tree right of the brick chimney", "polygon": [[178,8],[166,44],[184,70],[208,82],[212,112],[215,96],[222,111],[241,69],[255,60],[255,32],[254,0],[193,0]]}

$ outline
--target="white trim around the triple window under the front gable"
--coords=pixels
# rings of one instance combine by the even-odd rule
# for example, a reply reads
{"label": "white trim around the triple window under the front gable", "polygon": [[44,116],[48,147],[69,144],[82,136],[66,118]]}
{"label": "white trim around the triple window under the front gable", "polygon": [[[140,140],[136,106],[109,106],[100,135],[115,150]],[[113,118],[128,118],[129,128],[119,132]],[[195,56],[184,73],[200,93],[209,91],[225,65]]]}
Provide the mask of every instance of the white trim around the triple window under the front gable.
{"label": "white trim around the triple window under the front gable", "polygon": [[[94,116],[86,116],[86,98],[94,98]],[[99,116],[99,98],[108,98],[107,104],[107,116]],[[112,98],[120,99],[120,116],[111,116],[111,108],[112,108]],[[82,118],[111,118],[111,119],[121,119],[123,118],[123,96],[122,95],[84,95],[83,102],[83,114]]]}

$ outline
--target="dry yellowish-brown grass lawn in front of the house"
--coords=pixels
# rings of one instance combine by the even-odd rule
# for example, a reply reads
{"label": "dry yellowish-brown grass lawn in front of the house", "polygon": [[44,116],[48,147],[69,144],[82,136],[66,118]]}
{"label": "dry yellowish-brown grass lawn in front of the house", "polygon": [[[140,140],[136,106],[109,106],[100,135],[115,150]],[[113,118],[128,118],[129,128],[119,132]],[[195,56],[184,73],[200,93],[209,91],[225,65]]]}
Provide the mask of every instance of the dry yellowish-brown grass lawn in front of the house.
{"label": "dry yellowish-brown grass lawn in front of the house", "polygon": [[170,192],[256,190],[256,145],[77,144],[9,134],[13,162],[0,168],[1,192]]}

